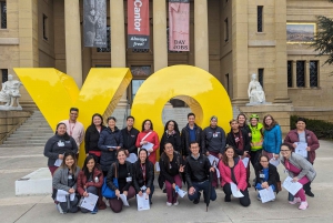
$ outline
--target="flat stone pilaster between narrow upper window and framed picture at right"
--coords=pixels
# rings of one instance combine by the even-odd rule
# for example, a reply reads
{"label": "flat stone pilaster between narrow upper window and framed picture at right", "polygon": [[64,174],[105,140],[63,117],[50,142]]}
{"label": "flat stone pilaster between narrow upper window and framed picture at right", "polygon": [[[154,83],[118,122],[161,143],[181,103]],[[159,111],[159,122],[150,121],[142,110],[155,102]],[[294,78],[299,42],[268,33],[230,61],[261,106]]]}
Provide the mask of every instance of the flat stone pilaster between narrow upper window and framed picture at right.
{"label": "flat stone pilaster between narrow upper window and framed picture at right", "polygon": [[286,0],[275,0],[275,95],[274,103],[291,103],[286,74]]}

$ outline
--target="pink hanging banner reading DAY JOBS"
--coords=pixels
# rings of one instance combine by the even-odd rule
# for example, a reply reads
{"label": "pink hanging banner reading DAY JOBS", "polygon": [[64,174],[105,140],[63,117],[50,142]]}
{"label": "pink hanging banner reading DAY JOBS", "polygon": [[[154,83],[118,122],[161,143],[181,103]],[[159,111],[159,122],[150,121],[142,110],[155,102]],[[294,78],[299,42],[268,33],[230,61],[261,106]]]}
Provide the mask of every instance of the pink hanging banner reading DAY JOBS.
{"label": "pink hanging banner reading DAY JOBS", "polygon": [[169,50],[190,51],[190,0],[169,0]]}

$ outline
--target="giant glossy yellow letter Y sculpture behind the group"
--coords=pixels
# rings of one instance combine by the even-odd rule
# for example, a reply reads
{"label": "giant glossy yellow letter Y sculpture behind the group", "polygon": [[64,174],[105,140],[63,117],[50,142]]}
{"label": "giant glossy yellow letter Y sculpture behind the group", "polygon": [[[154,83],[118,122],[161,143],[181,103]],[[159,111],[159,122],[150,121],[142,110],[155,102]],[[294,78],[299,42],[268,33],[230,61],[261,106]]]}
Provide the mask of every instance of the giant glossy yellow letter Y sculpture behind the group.
{"label": "giant glossy yellow letter Y sculpture behind the group", "polygon": [[[16,68],[14,71],[53,130],[61,120],[69,119],[71,107],[79,109],[78,121],[84,129],[91,124],[92,114],[112,114],[132,80],[128,68],[92,68],[79,91],[70,75],[53,68]],[[84,142],[80,154],[85,154]],[[79,156],[80,165],[84,159],[85,155]]]}

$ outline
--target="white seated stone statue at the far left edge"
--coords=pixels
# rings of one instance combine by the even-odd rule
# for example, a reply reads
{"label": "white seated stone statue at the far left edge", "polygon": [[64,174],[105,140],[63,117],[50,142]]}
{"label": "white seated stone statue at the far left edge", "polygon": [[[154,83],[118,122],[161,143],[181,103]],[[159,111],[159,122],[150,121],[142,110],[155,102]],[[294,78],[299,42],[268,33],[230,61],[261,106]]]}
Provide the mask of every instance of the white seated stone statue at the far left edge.
{"label": "white seated stone statue at the far left edge", "polygon": [[[19,103],[20,87],[22,83],[18,80],[12,80],[12,75],[8,75],[8,81],[2,83],[2,89],[0,91],[0,102],[6,102],[4,105],[0,105],[0,110],[22,110]],[[17,107],[13,107],[17,102]]]}

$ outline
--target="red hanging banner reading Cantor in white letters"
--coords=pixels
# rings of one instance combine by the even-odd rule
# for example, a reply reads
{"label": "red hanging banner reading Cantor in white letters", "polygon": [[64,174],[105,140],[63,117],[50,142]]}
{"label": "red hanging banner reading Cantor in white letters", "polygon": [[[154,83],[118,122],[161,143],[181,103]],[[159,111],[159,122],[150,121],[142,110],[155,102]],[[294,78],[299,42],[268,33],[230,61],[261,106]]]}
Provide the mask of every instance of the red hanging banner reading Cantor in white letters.
{"label": "red hanging banner reading Cantor in white letters", "polygon": [[128,48],[149,49],[149,0],[128,0]]}

